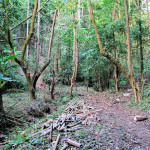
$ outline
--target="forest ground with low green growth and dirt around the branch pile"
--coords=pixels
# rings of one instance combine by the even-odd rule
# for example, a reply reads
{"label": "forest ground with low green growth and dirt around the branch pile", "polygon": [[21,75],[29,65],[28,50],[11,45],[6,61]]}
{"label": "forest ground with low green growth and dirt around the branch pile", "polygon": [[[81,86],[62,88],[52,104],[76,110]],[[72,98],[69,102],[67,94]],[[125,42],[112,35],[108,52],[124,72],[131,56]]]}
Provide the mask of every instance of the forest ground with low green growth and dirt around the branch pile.
{"label": "forest ground with low green growth and dirt around the branch pile", "polygon": [[[148,88],[147,88],[148,89]],[[83,149],[83,150],[99,150],[99,149],[149,149],[150,148],[150,122],[149,120],[142,122],[135,122],[135,115],[149,114],[148,97],[143,104],[135,105],[130,102],[132,99],[132,92],[130,89],[115,93],[113,90],[98,92],[90,89],[87,94],[85,87],[79,87],[78,91],[74,91],[74,98],[70,100],[69,87],[62,86],[56,89],[56,98],[50,101],[49,92],[46,92],[46,101],[43,102],[42,91],[37,92],[38,109],[43,111],[46,105],[50,108],[49,112],[42,115],[40,110],[37,114],[32,111],[35,103],[28,100],[28,94],[25,93],[11,93],[4,95],[4,105],[6,112],[11,112],[16,120],[11,122],[11,128],[8,126],[7,132],[1,133],[2,149],[53,149],[56,138],[60,134],[60,140],[57,149],[64,146],[66,139],[71,139],[82,144],[81,148],[68,146],[66,149]],[[129,94],[126,96],[125,94]],[[146,90],[145,94],[148,95]],[[15,101],[15,105],[14,104]],[[65,108],[69,105],[78,105],[84,101],[84,105],[91,107],[93,110],[102,110],[97,116],[96,120],[90,118],[85,124],[80,124],[80,128],[73,132],[53,131],[52,142],[49,141],[50,135],[43,136],[31,135],[43,130],[42,125],[50,119],[57,119],[64,114]],[[42,104],[42,105],[41,105]],[[132,106],[132,107],[131,107]],[[146,111],[140,110],[146,108]],[[80,110],[80,109],[79,109]],[[30,112],[30,114],[28,114]],[[10,114],[9,114],[10,115]],[[94,115],[93,115],[94,116]],[[22,120],[19,122],[17,120]],[[18,122],[19,124],[16,124]]]}

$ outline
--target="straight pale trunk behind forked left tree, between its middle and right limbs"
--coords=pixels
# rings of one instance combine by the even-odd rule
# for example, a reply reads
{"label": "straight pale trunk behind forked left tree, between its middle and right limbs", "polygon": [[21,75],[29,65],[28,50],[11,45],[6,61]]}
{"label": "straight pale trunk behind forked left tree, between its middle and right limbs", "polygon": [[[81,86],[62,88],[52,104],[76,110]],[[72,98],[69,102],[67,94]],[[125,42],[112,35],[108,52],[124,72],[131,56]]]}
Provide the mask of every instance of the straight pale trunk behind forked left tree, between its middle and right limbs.
{"label": "straight pale trunk behind forked left tree, between its middle and right limbs", "polygon": [[[38,0],[38,10],[40,10],[40,0]],[[36,71],[39,66],[39,52],[40,52],[40,11],[38,12],[38,20],[37,20],[37,49],[36,49]]]}

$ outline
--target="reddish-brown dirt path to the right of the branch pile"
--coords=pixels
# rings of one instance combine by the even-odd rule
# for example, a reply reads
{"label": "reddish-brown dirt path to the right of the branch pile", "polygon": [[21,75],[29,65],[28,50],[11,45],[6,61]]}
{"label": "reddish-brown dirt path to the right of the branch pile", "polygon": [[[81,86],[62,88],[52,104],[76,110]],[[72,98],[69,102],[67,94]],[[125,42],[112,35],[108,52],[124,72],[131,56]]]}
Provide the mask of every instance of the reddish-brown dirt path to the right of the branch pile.
{"label": "reddish-brown dirt path to the right of the branch pile", "polygon": [[[84,95],[87,94],[84,92]],[[150,118],[150,114],[125,107],[129,97],[124,97],[121,93],[110,94],[107,91],[100,96],[90,93],[88,96],[84,96],[83,99],[85,103],[93,106],[95,109],[103,110],[100,116],[100,123],[108,127],[108,129],[106,135],[105,131],[100,131],[99,134],[101,134],[100,138],[111,137],[112,141],[108,149],[150,150],[150,120],[135,122],[133,119],[135,115],[146,115]],[[112,104],[112,106],[109,106],[108,103]]]}

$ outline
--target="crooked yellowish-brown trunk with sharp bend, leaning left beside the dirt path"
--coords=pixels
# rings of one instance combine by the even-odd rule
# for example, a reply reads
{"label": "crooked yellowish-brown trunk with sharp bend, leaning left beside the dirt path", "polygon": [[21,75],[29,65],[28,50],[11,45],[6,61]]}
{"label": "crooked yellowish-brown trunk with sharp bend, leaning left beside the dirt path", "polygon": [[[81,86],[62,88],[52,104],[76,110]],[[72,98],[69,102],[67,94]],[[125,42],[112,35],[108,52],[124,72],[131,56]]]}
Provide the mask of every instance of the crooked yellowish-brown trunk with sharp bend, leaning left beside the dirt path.
{"label": "crooked yellowish-brown trunk with sharp bend, leaning left beside the dirt path", "polygon": [[93,14],[93,11],[92,11],[91,1],[90,0],[88,0],[88,1],[89,1],[91,17],[92,17],[93,25],[94,25],[95,32],[96,32],[96,37],[97,37],[100,53],[104,57],[109,59],[114,65],[116,65],[120,69],[120,71],[123,73],[124,77],[130,82],[130,84],[132,86],[132,89],[134,91],[135,100],[137,102],[138,100],[140,100],[141,94],[140,94],[140,90],[139,90],[138,84],[136,83],[136,81],[134,79],[134,75],[133,74],[128,74],[126,69],[123,67],[123,65],[118,60],[116,60],[114,57],[112,57],[111,55],[109,55],[108,53],[103,51],[103,47],[102,47],[102,44],[101,44],[101,39],[99,37],[99,33],[98,33],[98,30],[97,30],[96,22],[95,22],[95,19],[94,19],[94,14]]}

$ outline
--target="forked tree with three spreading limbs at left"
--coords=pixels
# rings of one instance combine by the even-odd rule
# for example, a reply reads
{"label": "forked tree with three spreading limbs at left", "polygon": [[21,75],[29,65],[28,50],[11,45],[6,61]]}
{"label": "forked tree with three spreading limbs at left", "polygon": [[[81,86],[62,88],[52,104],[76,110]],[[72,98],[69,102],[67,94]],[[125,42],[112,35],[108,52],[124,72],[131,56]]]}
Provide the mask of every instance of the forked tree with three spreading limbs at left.
{"label": "forked tree with three spreading limbs at left", "polygon": [[[38,0],[35,0],[34,9],[33,9],[33,12],[32,12],[32,19],[31,19],[29,34],[28,34],[27,38],[25,39],[24,44],[22,46],[20,58],[15,58],[16,63],[19,64],[19,66],[22,68],[22,70],[25,74],[25,77],[26,77],[26,80],[27,80],[27,85],[28,85],[29,92],[30,92],[30,99],[31,100],[36,99],[35,89],[36,89],[36,83],[37,83],[37,80],[38,80],[39,76],[43,73],[43,71],[46,69],[46,67],[50,64],[50,54],[51,54],[54,26],[55,26],[56,15],[57,15],[57,10],[55,10],[53,24],[52,24],[52,30],[51,30],[51,37],[50,37],[50,40],[49,40],[48,60],[45,62],[45,64],[43,65],[42,68],[40,68],[39,70],[35,70],[33,76],[31,77],[31,75],[29,73],[29,70],[27,68],[27,65],[25,63],[25,53],[26,53],[27,45],[29,44],[29,42],[30,42],[30,40],[33,36],[33,29],[34,29],[35,16],[36,16],[36,13],[37,13],[37,8],[38,8]],[[15,54],[14,53],[14,46],[13,46],[13,43],[11,41],[11,33],[10,33],[10,29],[9,29],[9,15],[8,15],[8,2],[7,2],[7,0],[5,0],[5,11],[6,11],[6,25],[7,25],[8,43],[10,45],[12,54],[14,55]]]}

